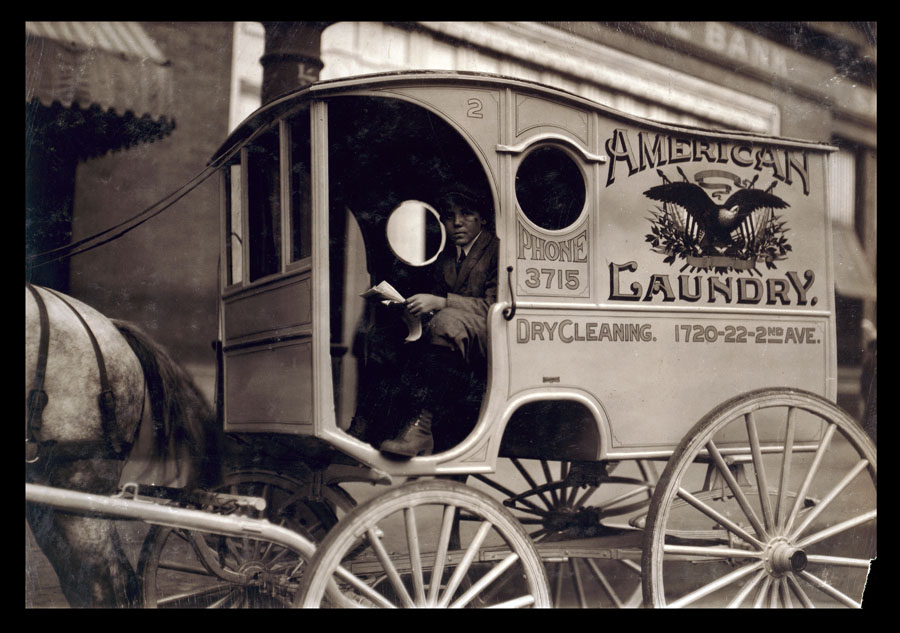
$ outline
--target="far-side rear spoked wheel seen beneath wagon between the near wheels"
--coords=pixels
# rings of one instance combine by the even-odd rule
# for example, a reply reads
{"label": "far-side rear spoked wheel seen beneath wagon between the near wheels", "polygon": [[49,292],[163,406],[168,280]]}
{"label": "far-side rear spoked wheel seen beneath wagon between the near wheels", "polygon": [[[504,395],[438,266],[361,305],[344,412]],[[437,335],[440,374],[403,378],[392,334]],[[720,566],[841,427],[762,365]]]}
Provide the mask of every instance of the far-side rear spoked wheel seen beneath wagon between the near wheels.
{"label": "far-side rear spoked wheel seen beneath wagon between the near wheels", "polygon": [[[501,467],[505,462],[501,462]],[[473,478],[503,495],[545,558],[555,607],[641,605],[640,535],[658,476],[648,461],[508,460],[502,482]],[[498,468],[498,474],[501,468]],[[515,490],[513,489],[515,488]],[[560,555],[548,544],[591,539]],[[603,556],[596,556],[600,549]]]}

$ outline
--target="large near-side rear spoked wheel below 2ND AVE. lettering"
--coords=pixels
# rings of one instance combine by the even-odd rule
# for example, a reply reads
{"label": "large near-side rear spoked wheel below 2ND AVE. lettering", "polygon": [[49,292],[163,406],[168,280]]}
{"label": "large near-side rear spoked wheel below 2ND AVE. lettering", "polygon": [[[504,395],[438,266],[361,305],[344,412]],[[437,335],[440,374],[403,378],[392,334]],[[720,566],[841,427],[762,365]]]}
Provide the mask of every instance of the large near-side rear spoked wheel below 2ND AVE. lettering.
{"label": "large near-side rear spoked wheel below 2ND AVE. lettering", "polygon": [[805,391],[710,412],[660,478],[644,598],[662,607],[859,607],[876,549],[875,447]]}

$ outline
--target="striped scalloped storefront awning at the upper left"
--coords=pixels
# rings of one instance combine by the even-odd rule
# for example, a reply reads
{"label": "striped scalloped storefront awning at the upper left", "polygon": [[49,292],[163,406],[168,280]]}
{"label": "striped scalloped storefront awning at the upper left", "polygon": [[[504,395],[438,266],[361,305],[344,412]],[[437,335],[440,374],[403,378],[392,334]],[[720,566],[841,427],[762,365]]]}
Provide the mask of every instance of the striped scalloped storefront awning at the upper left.
{"label": "striped scalloped storefront awning at the upper left", "polygon": [[27,132],[77,138],[85,156],[162,138],[171,73],[136,22],[26,22]]}

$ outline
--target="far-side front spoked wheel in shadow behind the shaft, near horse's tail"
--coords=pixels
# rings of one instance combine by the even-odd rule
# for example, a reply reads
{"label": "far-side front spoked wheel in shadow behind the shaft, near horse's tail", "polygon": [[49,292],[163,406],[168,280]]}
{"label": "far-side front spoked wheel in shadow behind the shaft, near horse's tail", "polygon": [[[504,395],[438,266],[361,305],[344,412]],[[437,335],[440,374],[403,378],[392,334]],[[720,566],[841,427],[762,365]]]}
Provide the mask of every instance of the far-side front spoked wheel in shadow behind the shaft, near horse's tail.
{"label": "far-side front spoked wheel in shadow behind the shaft, near horse's tail", "polygon": [[[314,541],[337,523],[337,512],[353,506],[336,486],[323,487],[323,499],[311,500],[299,482],[266,472],[229,474],[216,492],[261,497],[263,511],[236,507],[230,512],[267,519]],[[138,574],[149,608],[288,607],[306,562],[266,541],[153,526],[144,540]]]}

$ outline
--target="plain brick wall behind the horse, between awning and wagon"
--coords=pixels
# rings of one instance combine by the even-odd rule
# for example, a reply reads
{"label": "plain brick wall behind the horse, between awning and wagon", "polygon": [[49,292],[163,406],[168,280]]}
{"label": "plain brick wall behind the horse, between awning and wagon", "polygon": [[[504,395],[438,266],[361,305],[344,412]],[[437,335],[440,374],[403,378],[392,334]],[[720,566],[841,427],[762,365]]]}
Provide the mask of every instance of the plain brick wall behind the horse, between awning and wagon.
{"label": "plain brick wall behind the horse, between awning and wagon", "polygon": [[[82,163],[74,239],[121,222],[181,187],[228,133],[232,23],[143,23],[172,63],[174,132]],[[137,322],[182,362],[210,365],[216,336],[218,181],[72,260],[72,294]]]}

